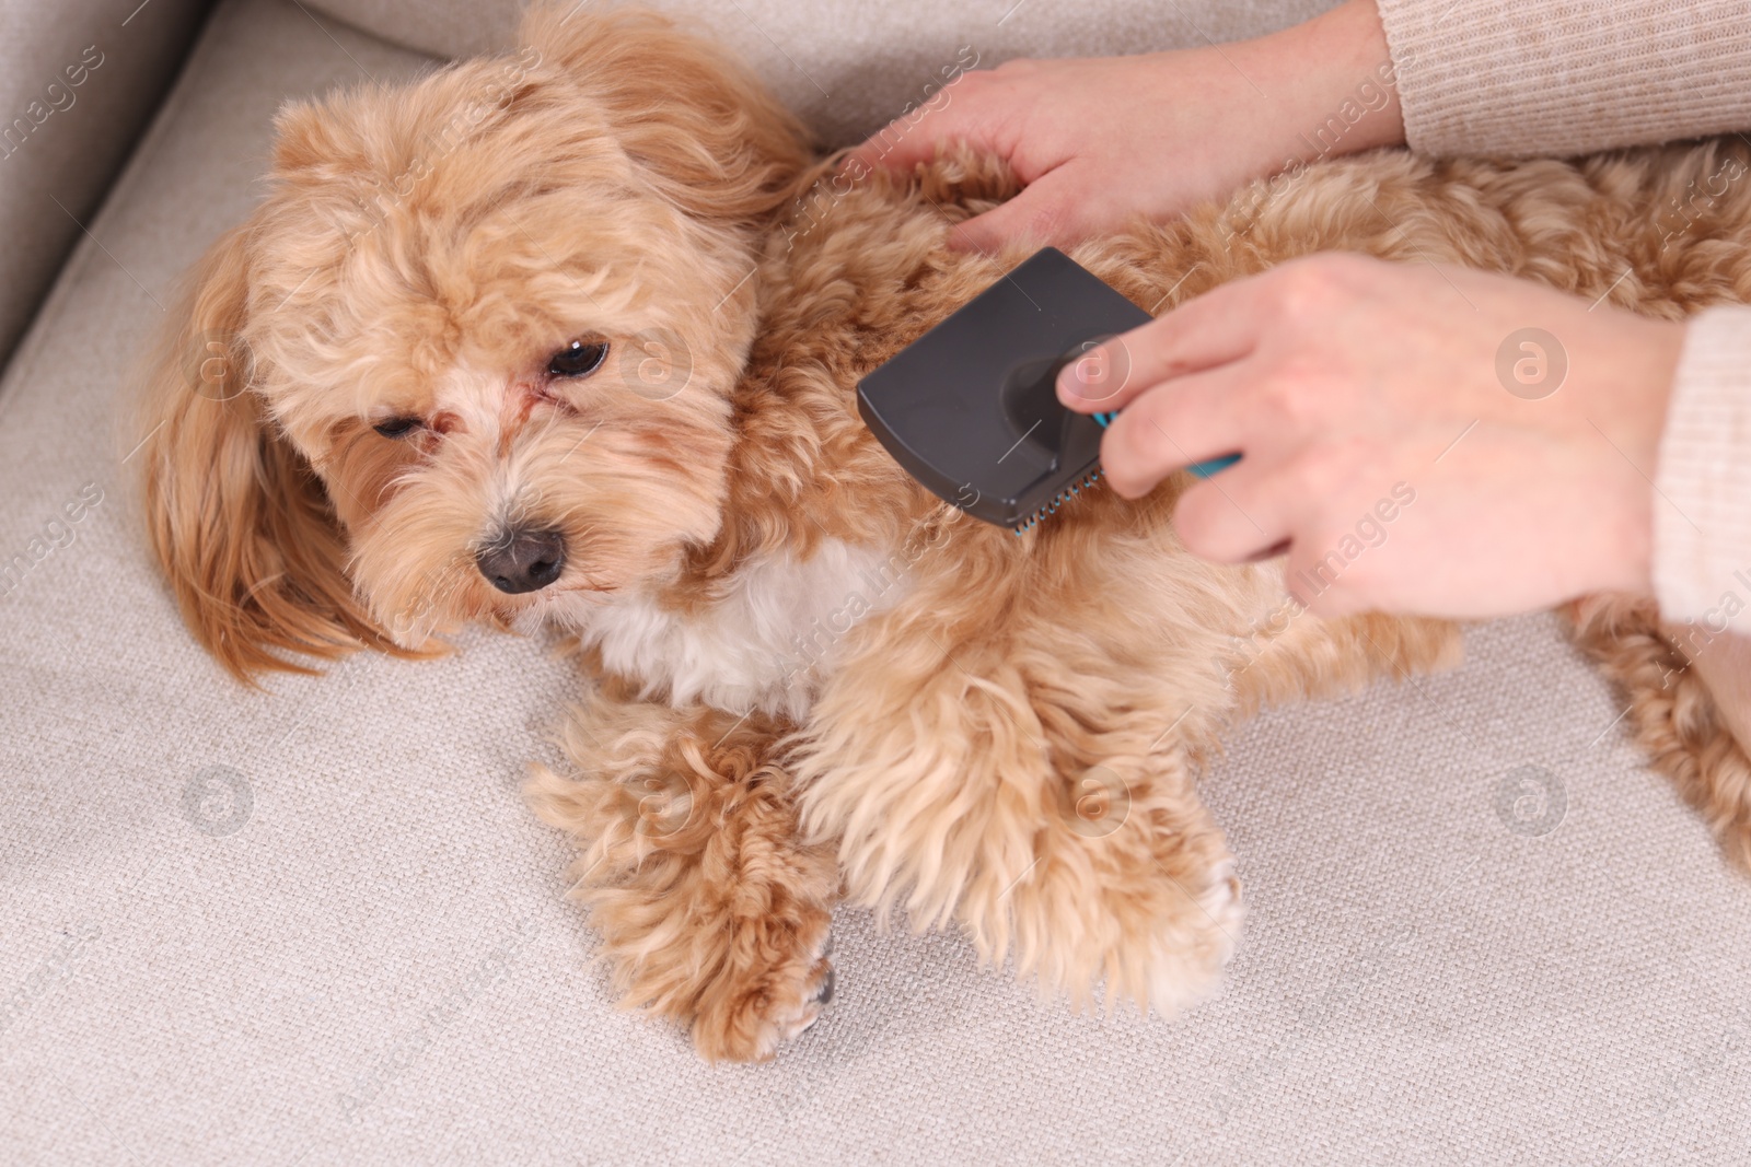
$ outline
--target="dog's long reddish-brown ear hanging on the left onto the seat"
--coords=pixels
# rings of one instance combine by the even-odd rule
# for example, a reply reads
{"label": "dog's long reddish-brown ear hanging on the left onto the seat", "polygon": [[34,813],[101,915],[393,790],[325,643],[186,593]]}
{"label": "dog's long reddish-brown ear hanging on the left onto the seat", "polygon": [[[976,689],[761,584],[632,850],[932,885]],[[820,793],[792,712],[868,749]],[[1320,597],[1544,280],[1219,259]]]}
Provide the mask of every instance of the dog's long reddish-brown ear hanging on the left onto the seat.
{"label": "dog's long reddish-brown ear hanging on the left onto the seat", "polygon": [[399,651],[352,593],[322,483],[250,388],[249,226],[207,254],[154,362],[140,446],[152,548],[182,619],[238,681],[285,653]]}

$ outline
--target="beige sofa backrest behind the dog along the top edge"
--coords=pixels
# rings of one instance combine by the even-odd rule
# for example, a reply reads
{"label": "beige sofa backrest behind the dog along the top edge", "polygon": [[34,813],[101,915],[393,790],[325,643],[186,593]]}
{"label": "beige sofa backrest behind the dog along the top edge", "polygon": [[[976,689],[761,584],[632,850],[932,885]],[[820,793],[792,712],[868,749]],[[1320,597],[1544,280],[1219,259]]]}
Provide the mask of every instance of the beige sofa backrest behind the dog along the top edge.
{"label": "beige sofa backrest behind the dog along the top edge", "polygon": [[[525,0],[306,0],[387,40],[459,56],[504,42]],[[581,0],[613,3],[615,0]],[[1107,56],[1257,37],[1336,0],[646,0],[709,31],[830,145],[861,140],[940,80],[961,45],[1012,56]],[[932,91],[933,93],[933,91]]]}

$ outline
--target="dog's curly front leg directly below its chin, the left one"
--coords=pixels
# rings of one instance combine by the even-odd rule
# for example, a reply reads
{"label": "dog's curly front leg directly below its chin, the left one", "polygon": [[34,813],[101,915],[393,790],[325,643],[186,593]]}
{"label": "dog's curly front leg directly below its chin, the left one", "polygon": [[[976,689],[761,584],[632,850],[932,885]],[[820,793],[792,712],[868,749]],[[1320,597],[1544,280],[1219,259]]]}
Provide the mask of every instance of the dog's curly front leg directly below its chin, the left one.
{"label": "dog's curly front leg directly below its chin, the left one", "polygon": [[797,835],[765,714],[597,700],[567,728],[580,766],[538,768],[536,812],[580,847],[574,896],[622,1003],[690,1025],[713,1060],[763,1060],[814,1024],[839,871]]}

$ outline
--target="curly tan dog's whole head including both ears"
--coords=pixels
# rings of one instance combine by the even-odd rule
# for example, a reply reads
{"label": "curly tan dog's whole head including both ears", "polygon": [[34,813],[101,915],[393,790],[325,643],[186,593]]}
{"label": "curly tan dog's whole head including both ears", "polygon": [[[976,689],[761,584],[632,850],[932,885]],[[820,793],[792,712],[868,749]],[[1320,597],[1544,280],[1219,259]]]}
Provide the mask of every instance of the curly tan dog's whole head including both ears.
{"label": "curly tan dog's whole head including both ears", "polygon": [[522,45],[287,107],[266,199],[196,273],[145,495],[238,677],[564,619],[718,530],[802,133],[650,14],[543,9]]}

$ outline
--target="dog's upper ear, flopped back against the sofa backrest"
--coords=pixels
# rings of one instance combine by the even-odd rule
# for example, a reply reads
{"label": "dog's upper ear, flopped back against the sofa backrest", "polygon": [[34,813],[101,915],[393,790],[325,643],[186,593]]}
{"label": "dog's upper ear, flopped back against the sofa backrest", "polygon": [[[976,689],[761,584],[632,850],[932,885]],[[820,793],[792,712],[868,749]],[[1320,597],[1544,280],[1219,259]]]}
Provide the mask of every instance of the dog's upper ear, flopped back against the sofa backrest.
{"label": "dog's upper ear, flopped back against the sofa backrest", "polygon": [[756,219],[795,198],[807,131],[709,40],[655,12],[567,2],[532,7],[520,42],[604,105],[622,147],[688,213]]}

